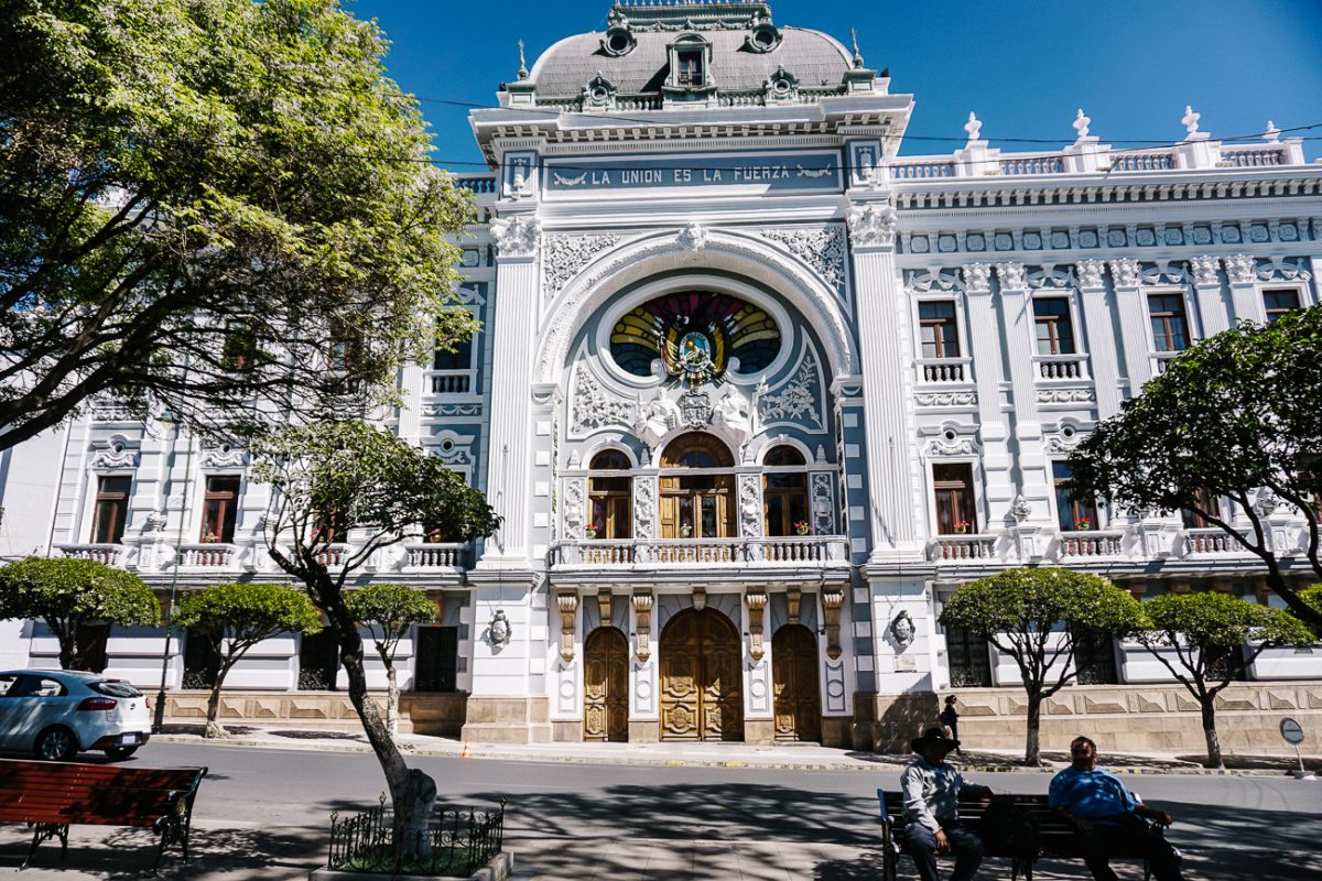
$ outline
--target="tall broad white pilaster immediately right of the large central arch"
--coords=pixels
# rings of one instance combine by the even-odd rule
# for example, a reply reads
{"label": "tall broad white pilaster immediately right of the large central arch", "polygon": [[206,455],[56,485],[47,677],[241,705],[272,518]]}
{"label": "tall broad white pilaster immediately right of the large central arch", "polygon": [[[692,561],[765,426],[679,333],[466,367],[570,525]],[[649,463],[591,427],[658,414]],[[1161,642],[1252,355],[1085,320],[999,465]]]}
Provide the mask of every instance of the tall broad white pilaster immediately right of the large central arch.
{"label": "tall broad white pilaster immediately right of the large central arch", "polygon": [[884,199],[858,203],[849,213],[874,560],[921,557],[925,538],[915,497],[911,328],[895,267],[895,209]]}

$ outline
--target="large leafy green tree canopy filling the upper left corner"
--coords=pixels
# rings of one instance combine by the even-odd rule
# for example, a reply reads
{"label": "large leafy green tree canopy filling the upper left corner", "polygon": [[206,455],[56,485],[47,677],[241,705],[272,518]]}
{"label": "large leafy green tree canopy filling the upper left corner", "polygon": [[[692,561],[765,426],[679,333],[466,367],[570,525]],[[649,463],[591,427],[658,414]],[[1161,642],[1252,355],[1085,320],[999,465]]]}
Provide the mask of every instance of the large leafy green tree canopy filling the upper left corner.
{"label": "large leafy green tree canopy filling the upper left corner", "polygon": [[93,398],[223,436],[369,412],[476,326],[448,308],[472,201],[374,22],[20,0],[0,34],[0,449]]}

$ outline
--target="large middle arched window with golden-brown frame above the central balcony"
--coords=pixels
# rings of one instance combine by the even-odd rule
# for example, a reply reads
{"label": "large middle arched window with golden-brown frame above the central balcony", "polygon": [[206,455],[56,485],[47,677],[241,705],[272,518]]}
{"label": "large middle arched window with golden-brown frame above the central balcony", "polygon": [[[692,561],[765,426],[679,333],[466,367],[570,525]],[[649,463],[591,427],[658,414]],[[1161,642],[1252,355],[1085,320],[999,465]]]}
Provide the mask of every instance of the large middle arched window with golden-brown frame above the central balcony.
{"label": "large middle arched window with golden-brown frame above the central balcony", "polygon": [[734,465],[730,449],[711,435],[674,439],[661,456],[661,538],[735,535],[735,476],[724,470]]}

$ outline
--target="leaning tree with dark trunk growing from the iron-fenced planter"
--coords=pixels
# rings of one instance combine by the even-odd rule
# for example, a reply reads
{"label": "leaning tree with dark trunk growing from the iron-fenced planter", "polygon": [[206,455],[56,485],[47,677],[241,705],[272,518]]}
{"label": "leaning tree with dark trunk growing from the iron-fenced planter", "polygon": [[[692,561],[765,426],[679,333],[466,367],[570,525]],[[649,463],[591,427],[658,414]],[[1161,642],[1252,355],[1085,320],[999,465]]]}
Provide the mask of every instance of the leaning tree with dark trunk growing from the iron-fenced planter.
{"label": "leaning tree with dark trunk growing from the iron-fenced planter", "polygon": [[[349,608],[349,576],[382,548],[420,539],[423,524],[460,542],[490,535],[498,518],[483,494],[444,464],[387,431],[358,421],[295,425],[253,445],[253,477],[272,487],[267,551],[325,613],[362,720],[390,789],[401,861],[424,861],[436,783],[410,769],[368,697],[364,645]],[[332,538],[352,538],[330,553]]]}

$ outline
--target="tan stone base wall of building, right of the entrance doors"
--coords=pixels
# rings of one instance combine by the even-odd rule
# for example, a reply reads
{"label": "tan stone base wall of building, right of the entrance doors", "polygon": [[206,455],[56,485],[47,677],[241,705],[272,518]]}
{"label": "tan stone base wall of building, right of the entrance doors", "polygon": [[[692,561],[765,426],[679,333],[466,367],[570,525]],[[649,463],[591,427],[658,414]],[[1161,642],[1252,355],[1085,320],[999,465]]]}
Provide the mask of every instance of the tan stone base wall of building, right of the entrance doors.
{"label": "tan stone base wall of building, right of the entrance doors", "polygon": [[[1027,700],[1022,688],[965,688],[958,696],[965,749],[1022,750]],[[924,725],[939,724],[941,696],[858,695],[854,746],[906,753]],[[1305,754],[1322,754],[1322,682],[1236,683],[1216,700],[1216,732],[1225,756],[1292,754],[1281,738],[1286,716],[1303,726]],[[1063,753],[1087,734],[1101,753],[1207,750],[1202,713],[1183,686],[1073,686],[1043,704],[1042,750]]]}

